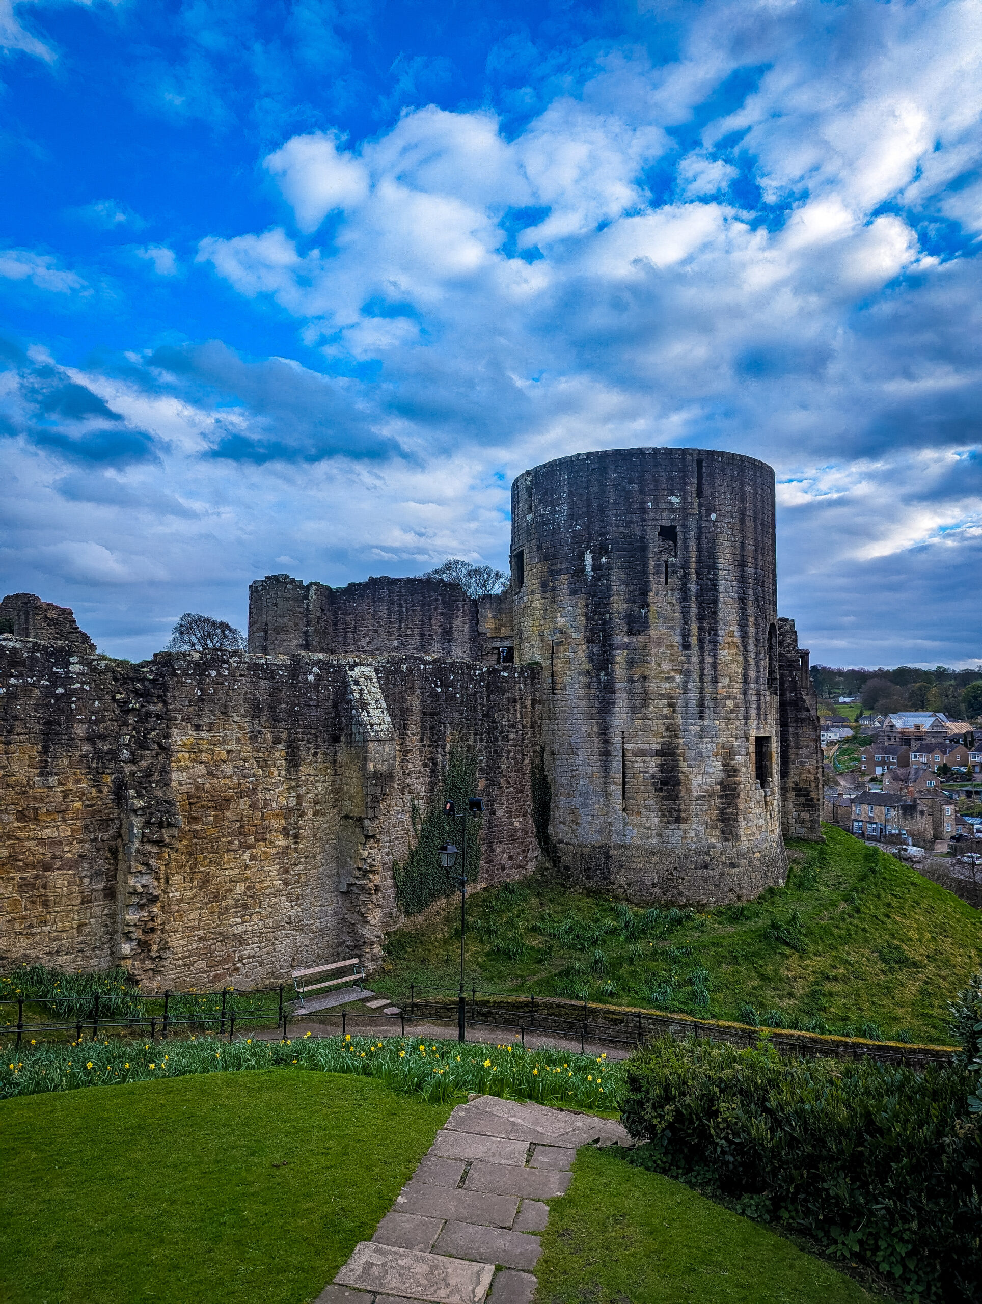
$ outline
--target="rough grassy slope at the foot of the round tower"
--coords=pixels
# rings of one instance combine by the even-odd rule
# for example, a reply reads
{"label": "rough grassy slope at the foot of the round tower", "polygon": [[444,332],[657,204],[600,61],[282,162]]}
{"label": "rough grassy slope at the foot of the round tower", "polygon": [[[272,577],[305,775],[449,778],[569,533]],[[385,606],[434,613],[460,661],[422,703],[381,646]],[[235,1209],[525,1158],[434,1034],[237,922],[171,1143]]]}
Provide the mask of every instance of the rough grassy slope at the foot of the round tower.
{"label": "rough grassy slope at the foot of the round tower", "polygon": [[[468,975],[488,991],[949,1045],[947,1003],[982,962],[982,911],[823,828],[824,848],[789,845],[785,888],[704,913],[644,911],[544,878],[480,892]],[[459,938],[456,905],[390,934],[391,994],[455,990]]]}

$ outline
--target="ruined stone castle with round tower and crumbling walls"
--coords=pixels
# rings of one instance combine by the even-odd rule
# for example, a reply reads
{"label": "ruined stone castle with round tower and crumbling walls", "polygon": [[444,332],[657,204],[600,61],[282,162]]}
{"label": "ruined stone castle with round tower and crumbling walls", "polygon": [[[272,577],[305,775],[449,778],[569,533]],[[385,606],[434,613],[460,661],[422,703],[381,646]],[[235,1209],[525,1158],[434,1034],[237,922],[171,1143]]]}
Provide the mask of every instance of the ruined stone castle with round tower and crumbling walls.
{"label": "ruined stone castle with round tower and crumbling walls", "polygon": [[638,902],[782,884],[784,837],[820,837],[822,751],[772,469],[580,454],[519,476],[511,519],[503,593],[266,576],[248,652],[111,661],[67,609],[5,599],[3,961],[149,987],[372,962],[455,751],[481,885],[541,854]]}

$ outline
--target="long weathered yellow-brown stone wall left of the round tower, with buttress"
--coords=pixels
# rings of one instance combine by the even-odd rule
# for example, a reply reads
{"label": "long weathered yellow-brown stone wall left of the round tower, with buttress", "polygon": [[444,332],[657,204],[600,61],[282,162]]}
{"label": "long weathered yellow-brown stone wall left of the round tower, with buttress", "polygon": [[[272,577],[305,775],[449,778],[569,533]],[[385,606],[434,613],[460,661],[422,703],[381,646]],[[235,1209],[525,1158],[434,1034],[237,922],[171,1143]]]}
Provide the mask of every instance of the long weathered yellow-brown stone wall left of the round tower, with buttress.
{"label": "long weathered yellow-brown stone wall left of the round tower, with buttress", "polygon": [[412,801],[458,743],[485,798],[481,874],[535,863],[533,670],[317,653],[140,665],[0,640],[0,957],[147,986],[282,981],[378,957]]}

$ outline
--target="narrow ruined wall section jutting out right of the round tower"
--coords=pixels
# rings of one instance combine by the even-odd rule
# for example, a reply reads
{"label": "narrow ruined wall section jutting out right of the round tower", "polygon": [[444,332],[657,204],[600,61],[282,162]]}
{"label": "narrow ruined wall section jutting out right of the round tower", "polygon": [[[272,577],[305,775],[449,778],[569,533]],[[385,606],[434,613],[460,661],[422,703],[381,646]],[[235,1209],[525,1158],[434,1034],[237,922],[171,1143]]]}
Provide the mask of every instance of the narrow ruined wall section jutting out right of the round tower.
{"label": "narrow ruined wall section jutting out right of the round tower", "polygon": [[781,699],[781,829],[788,838],[822,841],[824,763],[818,696],[807,649],[798,647],[794,621],[777,621]]}

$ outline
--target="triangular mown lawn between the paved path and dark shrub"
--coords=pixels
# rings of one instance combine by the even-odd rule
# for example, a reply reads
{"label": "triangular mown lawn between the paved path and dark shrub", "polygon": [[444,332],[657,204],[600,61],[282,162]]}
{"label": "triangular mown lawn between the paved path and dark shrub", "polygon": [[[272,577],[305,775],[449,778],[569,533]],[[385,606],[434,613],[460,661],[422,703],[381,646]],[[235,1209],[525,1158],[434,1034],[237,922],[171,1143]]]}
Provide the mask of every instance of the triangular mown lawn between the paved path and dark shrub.
{"label": "triangular mown lawn between the paved path and dark shrub", "polygon": [[767,1227],[604,1150],[550,1204],[536,1304],[863,1304],[879,1300]]}

